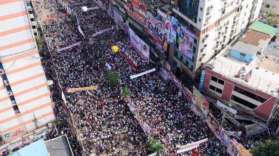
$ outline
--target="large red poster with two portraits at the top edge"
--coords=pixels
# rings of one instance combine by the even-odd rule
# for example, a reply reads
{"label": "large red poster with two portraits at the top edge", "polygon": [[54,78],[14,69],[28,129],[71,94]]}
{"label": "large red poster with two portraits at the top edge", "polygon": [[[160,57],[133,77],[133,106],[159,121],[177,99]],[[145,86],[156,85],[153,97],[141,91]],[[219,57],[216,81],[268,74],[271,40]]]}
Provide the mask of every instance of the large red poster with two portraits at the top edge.
{"label": "large red poster with two portraits at the top edge", "polygon": [[139,20],[139,22],[144,23],[146,6],[139,0],[127,0],[127,13],[132,15],[134,18]]}

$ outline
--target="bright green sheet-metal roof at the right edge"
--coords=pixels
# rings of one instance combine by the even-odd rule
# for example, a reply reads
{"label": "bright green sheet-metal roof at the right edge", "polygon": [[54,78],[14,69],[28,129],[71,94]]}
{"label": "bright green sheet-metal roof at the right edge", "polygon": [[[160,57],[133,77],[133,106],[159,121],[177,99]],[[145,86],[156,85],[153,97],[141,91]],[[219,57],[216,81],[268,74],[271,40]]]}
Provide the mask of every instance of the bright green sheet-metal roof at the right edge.
{"label": "bright green sheet-metal roof at the right edge", "polygon": [[268,24],[265,24],[263,22],[260,21],[256,21],[254,22],[249,29],[253,29],[256,30],[258,32],[263,32],[265,34],[269,34],[271,36],[274,36],[277,32],[278,32],[278,28],[276,27],[272,27]]}

